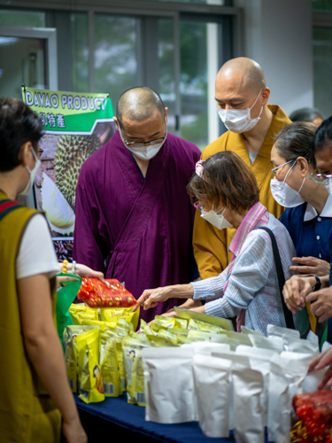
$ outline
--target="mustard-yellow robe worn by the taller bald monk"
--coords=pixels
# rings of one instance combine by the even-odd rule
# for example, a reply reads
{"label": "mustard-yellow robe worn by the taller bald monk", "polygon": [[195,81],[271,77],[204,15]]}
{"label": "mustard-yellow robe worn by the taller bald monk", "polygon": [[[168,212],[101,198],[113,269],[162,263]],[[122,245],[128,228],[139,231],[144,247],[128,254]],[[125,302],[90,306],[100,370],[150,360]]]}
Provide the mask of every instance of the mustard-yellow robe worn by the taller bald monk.
{"label": "mustard-yellow robe worn by the taller bald monk", "polygon": [[[243,135],[230,131],[220,136],[212,144],[209,144],[202,153],[201,159],[208,159],[217,152],[227,150],[238,154],[251,167],[252,172],[256,176],[259,185],[260,202],[266,206],[267,212],[279,218],[284,208],[276,203],[270,190],[270,180],[273,178],[271,149],[274,145],[274,136],[291,121],[280,106],[268,105],[268,107],[274,113],[274,120],[252,165]],[[199,211],[196,213],[193,245],[199,275],[203,279],[218,276],[228,267],[229,260],[232,257],[232,254],[228,252],[228,248],[235,234],[235,229],[220,230],[214,228],[211,223],[200,217]]]}

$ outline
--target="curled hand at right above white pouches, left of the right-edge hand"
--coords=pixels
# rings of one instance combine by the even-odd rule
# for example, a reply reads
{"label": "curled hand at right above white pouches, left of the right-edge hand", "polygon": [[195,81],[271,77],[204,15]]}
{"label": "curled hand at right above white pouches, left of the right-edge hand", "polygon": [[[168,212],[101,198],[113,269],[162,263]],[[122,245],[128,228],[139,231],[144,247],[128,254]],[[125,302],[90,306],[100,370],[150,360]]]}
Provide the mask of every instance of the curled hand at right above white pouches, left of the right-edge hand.
{"label": "curled hand at right above white pouches, left of the right-edge hand", "polygon": [[293,314],[305,306],[306,295],[313,291],[309,278],[291,276],[283,286],[283,299],[285,300],[286,306]]}

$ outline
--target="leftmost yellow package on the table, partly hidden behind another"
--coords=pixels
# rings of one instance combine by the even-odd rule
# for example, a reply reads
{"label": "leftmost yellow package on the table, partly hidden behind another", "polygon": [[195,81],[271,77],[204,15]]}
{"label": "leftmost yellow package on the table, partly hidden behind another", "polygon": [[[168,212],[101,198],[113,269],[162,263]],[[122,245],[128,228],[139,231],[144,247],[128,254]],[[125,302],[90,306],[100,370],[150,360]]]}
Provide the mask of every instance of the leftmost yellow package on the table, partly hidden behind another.
{"label": "leftmost yellow package on the table, partly hidden behind another", "polygon": [[72,392],[77,392],[78,350],[76,337],[94,328],[97,326],[68,325],[64,330],[66,373]]}

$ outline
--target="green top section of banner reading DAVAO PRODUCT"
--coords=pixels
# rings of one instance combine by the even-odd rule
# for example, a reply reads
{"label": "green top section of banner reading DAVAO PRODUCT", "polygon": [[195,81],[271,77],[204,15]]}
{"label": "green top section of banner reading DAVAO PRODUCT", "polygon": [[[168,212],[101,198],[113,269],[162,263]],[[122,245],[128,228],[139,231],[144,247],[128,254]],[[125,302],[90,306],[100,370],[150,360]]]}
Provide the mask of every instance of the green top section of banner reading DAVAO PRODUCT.
{"label": "green top section of banner reading DAVAO PRODUCT", "polygon": [[113,117],[108,94],[64,92],[22,86],[23,101],[38,113],[45,134],[86,135]]}

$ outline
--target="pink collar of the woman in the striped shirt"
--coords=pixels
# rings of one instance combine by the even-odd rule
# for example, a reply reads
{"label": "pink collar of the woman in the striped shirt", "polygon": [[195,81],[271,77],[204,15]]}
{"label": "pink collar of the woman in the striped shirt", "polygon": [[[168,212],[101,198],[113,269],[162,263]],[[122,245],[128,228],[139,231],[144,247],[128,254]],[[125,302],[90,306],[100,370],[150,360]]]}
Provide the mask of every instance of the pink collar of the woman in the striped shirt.
{"label": "pink collar of the woman in the striped shirt", "polygon": [[233,253],[235,257],[240,253],[244,240],[247,235],[258,224],[267,223],[268,215],[266,214],[266,207],[260,202],[256,203],[245,214],[240,226],[236,229],[235,236],[229,246],[229,251]]}

